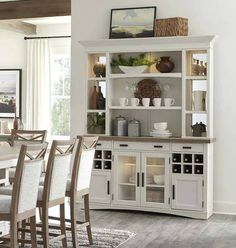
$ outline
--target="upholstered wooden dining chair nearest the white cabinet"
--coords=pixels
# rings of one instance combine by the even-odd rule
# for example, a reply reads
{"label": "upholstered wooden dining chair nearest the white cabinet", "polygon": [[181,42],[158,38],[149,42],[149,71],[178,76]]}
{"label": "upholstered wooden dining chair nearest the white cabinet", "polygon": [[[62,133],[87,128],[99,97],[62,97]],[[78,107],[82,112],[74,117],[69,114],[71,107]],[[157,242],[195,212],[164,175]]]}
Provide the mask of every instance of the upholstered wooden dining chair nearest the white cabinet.
{"label": "upholstered wooden dining chair nearest the white cabinet", "polygon": [[[89,187],[93,168],[93,159],[98,137],[77,137],[77,145],[74,150],[73,163],[70,178],[67,180],[66,197],[69,197],[70,219],[66,223],[70,226],[66,229],[71,231],[73,247],[78,247],[77,229],[86,227],[90,245],[93,244],[91,222],[89,214]],[[77,220],[77,201],[82,197],[84,200],[85,221]],[[58,217],[50,216],[52,220]],[[57,228],[54,226],[54,228]]]}

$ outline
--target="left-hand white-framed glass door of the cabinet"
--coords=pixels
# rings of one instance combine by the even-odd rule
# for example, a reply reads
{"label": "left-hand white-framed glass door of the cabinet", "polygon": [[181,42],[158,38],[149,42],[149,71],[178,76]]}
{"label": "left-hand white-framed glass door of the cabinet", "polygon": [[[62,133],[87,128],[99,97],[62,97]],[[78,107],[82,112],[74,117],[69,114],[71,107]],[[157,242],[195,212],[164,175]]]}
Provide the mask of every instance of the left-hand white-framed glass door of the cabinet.
{"label": "left-hand white-framed glass door of the cabinet", "polygon": [[140,201],[140,153],[114,153],[114,202],[137,205]]}

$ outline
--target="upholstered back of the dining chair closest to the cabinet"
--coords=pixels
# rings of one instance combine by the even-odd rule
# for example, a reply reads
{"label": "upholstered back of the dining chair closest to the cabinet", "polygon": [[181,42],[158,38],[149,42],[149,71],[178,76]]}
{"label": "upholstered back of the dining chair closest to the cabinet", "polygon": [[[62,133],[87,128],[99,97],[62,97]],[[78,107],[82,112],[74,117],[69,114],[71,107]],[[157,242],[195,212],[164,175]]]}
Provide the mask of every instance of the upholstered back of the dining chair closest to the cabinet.
{"label": "upholstered back of the dining chair closest to the cabinet", "polygon": [[[89,189],[93,160],[98,137],[83,137],[79,139],[77,155],[75,155],[73,173],[71,178],[71,190]],[[74,188],[75,189],[74,189]]]}

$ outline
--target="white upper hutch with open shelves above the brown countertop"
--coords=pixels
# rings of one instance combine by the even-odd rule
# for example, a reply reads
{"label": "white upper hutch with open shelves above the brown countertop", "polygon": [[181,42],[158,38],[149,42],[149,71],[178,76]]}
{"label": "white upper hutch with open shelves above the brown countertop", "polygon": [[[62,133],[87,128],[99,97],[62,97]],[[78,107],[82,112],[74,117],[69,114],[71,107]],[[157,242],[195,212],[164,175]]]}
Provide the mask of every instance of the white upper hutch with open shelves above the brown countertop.
{"label": "white upper hutch with open shelves above the brown countertop", "polygon": [[[112,135],[112,120],[122,115],[128,120],[136,118],[141,122],[141,136],[149,136],[155,122],[168,122],[168,128],[176,137],[192,137],[192,126],[202,122],[206,126],[204,137],[212,137],[212,47],[214,36],[168,37],[125,40],[81,41],[87,53],[87,92],[85,133]],[[170,56],[174,70],[160,73],[155,64],[144,73],[125,74],[111,61],[118,55],[135,57],[145,54],[148,59]],[[97,61],[106,66],[106,75],[96,77],[93,67]],[[196,62],[197,61],[197,62]],[[196,71],[198,65],[199,71]],[[201,66],[202,65],[202,66]],[[205,65],[205,71],[203,71]],[[157,81],[161,88],[160,107],[129,105],[123,107],[119,98],[134,97],[137,83],[143,79]],[[91,95],[94,86],[100,86],[105,97],[104,109],[91,108]],[[196,91],[203,91],[204,106],[196,106]],[[194,93],[195,92],[195,93]],[[174,98],[172,106],[164,106],[163,98]],[[100,128],[87,128],[88,123],[100,121]],[[98,122],[99,122],[98,121]]]}

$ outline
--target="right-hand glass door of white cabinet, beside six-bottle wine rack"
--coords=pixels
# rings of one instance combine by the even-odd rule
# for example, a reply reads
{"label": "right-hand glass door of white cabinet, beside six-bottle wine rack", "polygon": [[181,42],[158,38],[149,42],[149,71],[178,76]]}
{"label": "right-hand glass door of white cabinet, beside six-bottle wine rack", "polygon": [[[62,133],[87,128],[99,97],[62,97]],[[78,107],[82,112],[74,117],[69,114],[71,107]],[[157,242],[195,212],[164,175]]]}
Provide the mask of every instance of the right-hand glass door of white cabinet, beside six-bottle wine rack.
{"label": "right-hand glass door of white cabinet, beside six-bottle wine rack", "polygon": [[142,153],[141,203],[149,207],[168,205],[169,155]]}

